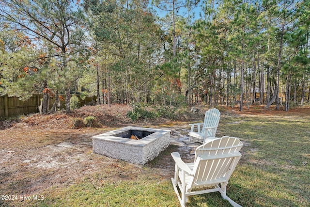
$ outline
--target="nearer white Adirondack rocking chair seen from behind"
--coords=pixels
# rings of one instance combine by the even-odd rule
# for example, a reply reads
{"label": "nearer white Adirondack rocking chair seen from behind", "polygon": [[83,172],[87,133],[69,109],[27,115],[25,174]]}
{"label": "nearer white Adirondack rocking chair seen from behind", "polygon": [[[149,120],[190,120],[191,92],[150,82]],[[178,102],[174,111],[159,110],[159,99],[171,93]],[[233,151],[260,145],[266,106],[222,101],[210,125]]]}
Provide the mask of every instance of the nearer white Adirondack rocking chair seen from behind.
{"label": "nearer white Adirondack rocking chair seen from behind", "polygon": [[233,207],[241,207],[226,195],[226,186],[241,158],[239,150],[242,145],[238,138],[232,137],[210,140],[196,149],[200,154],[193,163],[185,163],[178,152],[171,153],[175,161],[174,178],[171,181],[182,207],[188,202],[187,196],[216,191]]}

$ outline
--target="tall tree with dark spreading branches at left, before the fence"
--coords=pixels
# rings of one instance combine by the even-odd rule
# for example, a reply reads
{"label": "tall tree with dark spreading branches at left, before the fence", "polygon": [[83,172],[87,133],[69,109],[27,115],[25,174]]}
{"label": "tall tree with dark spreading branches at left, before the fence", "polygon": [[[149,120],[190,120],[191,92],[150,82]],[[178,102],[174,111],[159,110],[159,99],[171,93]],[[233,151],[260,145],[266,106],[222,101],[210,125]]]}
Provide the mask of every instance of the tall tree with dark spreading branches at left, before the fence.
{"label": "tall tree with dark spreading branches at left, before the fence", "polygon": [[[55,58],[61,64],[55,75],[62,78],[66,93],[66,112],[70,112],[70,86],[75,81],[69,62],[83,62],[87,57],[83,25],[85,16],[74,9],[70,0],[1,0],[0,17],[18,31],[36,38],[42,47],[52,45],[52,53],[42,59]],[[78,2],[77,2],[78,3]],[[43,80],[44,92],[47,80]]]}

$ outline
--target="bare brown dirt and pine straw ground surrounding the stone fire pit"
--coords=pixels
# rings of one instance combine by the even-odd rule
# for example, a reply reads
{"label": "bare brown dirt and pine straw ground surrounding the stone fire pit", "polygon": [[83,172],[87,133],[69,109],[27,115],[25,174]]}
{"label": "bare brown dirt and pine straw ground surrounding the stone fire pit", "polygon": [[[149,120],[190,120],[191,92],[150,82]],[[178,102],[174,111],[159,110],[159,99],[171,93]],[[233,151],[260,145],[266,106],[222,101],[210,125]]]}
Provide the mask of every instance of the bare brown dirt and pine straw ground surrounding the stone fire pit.
{"label": "bare brown dirt and pine straw ground surrounding the stone fire pit", "polygon": [[[70,185],[96,173],[106,172],[103,180],[134,179],[145,174],[141,165],[126,163],[117,159],[93,154],[93,135],[124,126],[138,126],[125,117],[126,110],[116,109],[118,115],[109,115],[104,109],[95,111],[96,106],[84,108],[87,113],[75,111],[72,114],[56,113],[50,115],[32,114],[19,122],[10,122],[0,130],[0,189],[6,194],[38,194],[50,187]],[[82,110],[82,109],[80,109]],[[101,127],[71,128],[70,119],[96,115]],[[155,120],[156,121],[156,120]],[[147,166],[152,166],[162,177],[173,175],[173,160],[170,153],[180,151],[183,157],[191,159],[189,152],[194,146],[186,144],[189,127],[187,123],[171,123],[163,120],[162,125],[149,125],[154,120],[140,120],[139,126],[172,128],[171,143],[160,158]],[[185,129],[185,128],[188,129]],[[187,157],[186,157],[187,156]],[[193,157],[192,157],[193,158]],[[162,170],[164,169],[164,170]],[[97,185],[97,184],[94,184]],[[100,188],[100,186],[97,186]]]}

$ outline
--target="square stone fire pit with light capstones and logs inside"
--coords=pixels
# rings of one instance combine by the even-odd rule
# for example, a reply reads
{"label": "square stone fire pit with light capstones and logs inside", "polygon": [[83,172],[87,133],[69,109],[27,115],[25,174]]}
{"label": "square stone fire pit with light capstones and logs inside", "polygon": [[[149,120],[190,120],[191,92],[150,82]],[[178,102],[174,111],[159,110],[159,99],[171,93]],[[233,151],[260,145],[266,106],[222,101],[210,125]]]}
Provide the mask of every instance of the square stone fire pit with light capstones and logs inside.
{"label": "square stone fire pit with light capstones and logs inside", "polygon": [[[170,133],[167,129],[123,127],[93,136],[93,153],[145,164],[169,146]],[[140,140],[130,139],[131,135]]]}

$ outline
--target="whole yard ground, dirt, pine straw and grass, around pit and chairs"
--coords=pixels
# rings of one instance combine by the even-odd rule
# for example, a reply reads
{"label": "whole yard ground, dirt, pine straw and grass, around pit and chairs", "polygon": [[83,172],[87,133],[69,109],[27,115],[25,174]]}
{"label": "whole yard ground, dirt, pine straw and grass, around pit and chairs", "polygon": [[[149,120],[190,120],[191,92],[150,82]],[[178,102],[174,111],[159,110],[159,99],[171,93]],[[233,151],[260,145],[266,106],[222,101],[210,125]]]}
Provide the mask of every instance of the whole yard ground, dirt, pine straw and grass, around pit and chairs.
{"label": "whole yard ground, dirt, pine straw and grass, around pit and chairs", "polygon": [[[219,108],[217,136],[239,137],[242,158],[227,193],[244,207],[310,206],[310,109],[243,112]],[[88,106],[71,114],[34,114],[0,122],[0,200],[6,207],[176,207],[171,152],[192,161],[197,145],[187,142],[189,123],[203,120],[184,112],[177,120],[151,119],[132,123],[130,107]],[[98,127],[73,128],[72,120],[94,116]],[[145,165],[92,153],[91,136],[124,126],[172,130],[171,145]],[[30,197],[28,197],[30,196]],[[41,199],[41,200],[39,200]],[[219,193],[191,196],[188,207],[229,207]]]}

